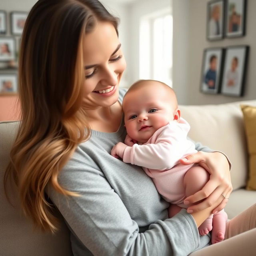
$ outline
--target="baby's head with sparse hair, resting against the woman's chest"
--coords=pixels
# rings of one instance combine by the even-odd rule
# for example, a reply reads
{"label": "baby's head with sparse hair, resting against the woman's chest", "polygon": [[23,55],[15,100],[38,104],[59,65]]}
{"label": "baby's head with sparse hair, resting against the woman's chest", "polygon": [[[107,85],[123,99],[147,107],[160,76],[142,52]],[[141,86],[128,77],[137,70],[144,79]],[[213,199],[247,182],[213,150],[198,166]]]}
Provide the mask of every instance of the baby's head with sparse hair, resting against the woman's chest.
{"label": "baby's head with sparse hair, resting against the woman's chest", "polygon": [[180,119],[174,90],[155,80],[134,83],[124,96],[123,111],[127,134],[141,143],[170,121]]}

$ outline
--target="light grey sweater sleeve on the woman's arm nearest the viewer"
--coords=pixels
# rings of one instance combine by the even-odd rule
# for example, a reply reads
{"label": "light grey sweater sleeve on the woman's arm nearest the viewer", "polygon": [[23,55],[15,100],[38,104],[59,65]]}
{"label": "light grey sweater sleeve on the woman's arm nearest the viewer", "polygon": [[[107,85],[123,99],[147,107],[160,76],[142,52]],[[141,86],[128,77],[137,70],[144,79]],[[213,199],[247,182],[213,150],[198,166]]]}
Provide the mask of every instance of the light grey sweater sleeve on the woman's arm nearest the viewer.
{"label": "light grey sweater sleeve on the woman's arm nearest the viewer", "polygon": [[[139,233],[138,224],[100,170],[81,162],[67,168],[59,182],[80,196],[65,197],[49,185],[47,193],[93,255],[177,256],[202,247],[194,219],[186,210],[173,218],[156,220]],[[206,246],[209,238],[203,239]]]}

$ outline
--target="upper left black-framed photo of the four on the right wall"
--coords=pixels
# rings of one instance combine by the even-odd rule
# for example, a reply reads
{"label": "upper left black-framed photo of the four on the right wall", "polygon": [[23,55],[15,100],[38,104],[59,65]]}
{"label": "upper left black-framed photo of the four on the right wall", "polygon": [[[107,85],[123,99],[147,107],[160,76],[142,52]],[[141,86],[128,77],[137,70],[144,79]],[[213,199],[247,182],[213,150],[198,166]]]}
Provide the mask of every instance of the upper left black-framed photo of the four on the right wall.
{"label": "upper left black-framed photo of the four on the right wall", "polygon": [[212,0],[207,4],[206,37],[210,41],[224,37],[224,10],[224,0]]}

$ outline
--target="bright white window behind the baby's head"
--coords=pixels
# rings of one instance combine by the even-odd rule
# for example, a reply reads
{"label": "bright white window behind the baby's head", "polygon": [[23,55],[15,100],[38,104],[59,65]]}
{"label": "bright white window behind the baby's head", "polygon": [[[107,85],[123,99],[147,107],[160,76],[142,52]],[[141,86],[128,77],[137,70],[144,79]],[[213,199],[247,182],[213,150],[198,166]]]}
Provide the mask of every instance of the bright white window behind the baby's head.
{"label": "bright white window behind the baby's head", "polygon": [[162,11],[140,22],[140,79],[154,79],[172,87],[172,15]]}

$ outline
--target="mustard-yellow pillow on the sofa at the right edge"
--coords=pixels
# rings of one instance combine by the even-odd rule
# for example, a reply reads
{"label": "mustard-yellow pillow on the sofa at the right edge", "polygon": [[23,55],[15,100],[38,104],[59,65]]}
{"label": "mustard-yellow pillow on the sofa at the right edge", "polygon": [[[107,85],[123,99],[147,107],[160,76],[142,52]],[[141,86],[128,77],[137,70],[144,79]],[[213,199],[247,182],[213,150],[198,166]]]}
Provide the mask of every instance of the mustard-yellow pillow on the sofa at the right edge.
{"label": "mustard-yellow pillow on the sofa at the right edge", "polygon": [[241,105],[249,153],[247,190],[256,190],[256,107]]}

